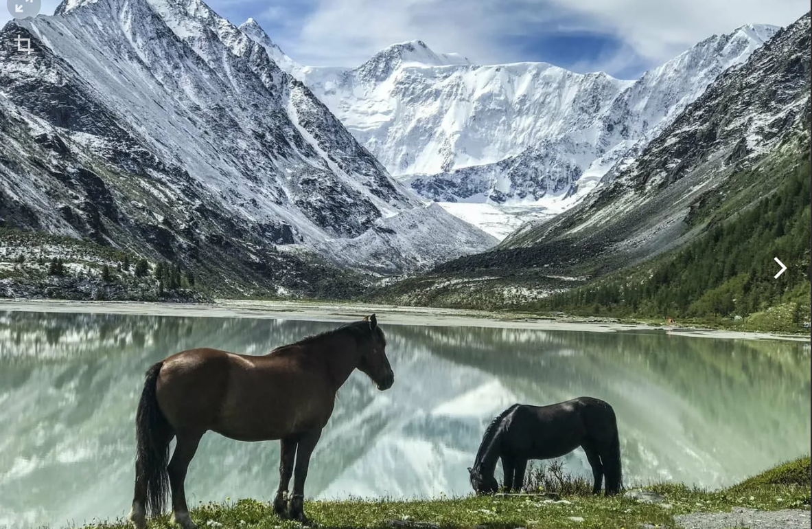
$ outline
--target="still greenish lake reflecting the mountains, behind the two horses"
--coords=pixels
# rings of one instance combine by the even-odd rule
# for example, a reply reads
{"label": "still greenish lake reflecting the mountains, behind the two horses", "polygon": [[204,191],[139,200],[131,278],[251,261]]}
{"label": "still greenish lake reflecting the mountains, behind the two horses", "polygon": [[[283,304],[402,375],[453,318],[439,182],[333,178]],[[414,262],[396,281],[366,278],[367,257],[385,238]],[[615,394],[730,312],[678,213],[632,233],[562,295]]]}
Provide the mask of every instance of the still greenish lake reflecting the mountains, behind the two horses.
{"label": "still greenish lake reflecting the mountains, behind the two horses", "polygon": [[[356,372],[308,497],[464,495],[490,419],[581,395],[617,414],[625,482],[715,488],[809,452],[808,343],[635,332],[387,325],[395,386]],[[144,371],[197,346],[263,354],[336,323],[0,312],[0,527],[127,514]],[[207,434],[189,505],[272,499],[279,443]],[[568,470],[590,475],[581,449]],[[501,479],[501,471],[498,474]]]}

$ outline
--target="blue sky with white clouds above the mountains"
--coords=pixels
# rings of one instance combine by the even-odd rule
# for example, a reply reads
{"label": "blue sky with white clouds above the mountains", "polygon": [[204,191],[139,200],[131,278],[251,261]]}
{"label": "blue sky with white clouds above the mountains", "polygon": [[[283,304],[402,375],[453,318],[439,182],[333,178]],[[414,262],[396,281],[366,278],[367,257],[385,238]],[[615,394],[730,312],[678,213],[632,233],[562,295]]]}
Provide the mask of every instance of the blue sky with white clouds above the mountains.
{"label": "blue sky with white clouds above the mountains", "polygon": [[[43,0],[52,13],[55,0]],[[420,39],[474,63],[546,61],[631,79],[714,33],[787,25],[807,0],[208,0],[235,24],[256,19],[299,63],[357,66]],[[3,11],[0,24],[9,15]]]}

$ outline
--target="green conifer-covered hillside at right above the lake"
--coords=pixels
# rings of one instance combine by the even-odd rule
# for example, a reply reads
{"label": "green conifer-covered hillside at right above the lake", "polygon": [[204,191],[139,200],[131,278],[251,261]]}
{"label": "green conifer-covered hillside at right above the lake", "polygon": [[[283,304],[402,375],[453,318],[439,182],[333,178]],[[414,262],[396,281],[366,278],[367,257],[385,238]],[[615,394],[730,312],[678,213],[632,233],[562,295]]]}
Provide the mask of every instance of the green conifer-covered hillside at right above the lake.
{"label": "green conifer-covered hillside at right above the lake", "polygon": [[[778,279],[775,257],[788,267]],[[775,193],[708,228],[685,248],[527,308],[614,316],[741,318],[754,325],[781,319],[782,327],[791,330],[810,321],[809,268],[810,163],[806,160]]]}

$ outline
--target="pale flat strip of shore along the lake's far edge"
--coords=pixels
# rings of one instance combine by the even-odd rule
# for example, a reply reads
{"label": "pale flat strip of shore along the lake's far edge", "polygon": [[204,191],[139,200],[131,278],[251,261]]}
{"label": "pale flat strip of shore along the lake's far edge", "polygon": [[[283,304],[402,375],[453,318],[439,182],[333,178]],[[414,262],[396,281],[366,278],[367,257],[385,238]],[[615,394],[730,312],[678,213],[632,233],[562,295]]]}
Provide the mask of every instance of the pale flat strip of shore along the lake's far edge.
{"label": "pale flat strip of shore along the lake's far edge", "polygon": [[774,332],[728,331],[679,325],[655,326],[620,323],[599,318],[542,318],[534,314],[496,313],[486,310],[443,309],[321,301],[243,301],[218,299],[214,303],[160,303],[146,301],[20,300],[0,298],[0,311],[132,314],[197,318],[298,319],[347,323],[375,313],[382,325],[438,327],[491,327],[571,332],[666,332],[673,336],[722,340],[783,340],[809,342],[809,336]]}

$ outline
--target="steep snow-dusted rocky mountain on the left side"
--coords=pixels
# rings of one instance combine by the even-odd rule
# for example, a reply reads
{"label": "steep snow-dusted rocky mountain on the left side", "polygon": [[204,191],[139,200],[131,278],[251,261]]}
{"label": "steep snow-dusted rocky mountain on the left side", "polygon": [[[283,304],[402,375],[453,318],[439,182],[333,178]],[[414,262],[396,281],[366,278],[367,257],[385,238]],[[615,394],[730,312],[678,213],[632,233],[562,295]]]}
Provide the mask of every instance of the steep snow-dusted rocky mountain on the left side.
{"label": "steep snow-dusted rocky mountain on the left side", "polygon": [[[65,0],[0,33],[17,36],[30,54],[0,50],[0,213],[12,226],[226,259],[277,286],[300,269],[301,287],[315,248],[425,209],[277,66],[270,40],[199,0]],[[393,241],[410,240],[412,262],[495,243],[434,220],[420,232],[433,254],[417,232]],[[460,233],[469,248],[451,248]]]}

